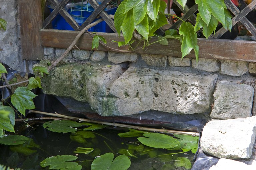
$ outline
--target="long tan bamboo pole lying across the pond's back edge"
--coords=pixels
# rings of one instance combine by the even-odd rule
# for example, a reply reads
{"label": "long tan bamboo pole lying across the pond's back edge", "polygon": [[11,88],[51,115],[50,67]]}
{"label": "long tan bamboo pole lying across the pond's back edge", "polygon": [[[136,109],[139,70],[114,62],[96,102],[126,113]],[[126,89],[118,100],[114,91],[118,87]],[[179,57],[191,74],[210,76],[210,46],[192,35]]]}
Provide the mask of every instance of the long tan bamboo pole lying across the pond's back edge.
{"label": "long tan bamboo pole lying across the pond's back edge", "polygon": [[148,127],[142,127],[142,126],[127,125],[127,124],[122,124],[122,123],[115,123],[115,122],[101,122],[101,121],[84,119],[84,118],[79,118],[79,117],[66,116],[66,115],[58,114],[56,112],[55,113],[47,113],[47,112],[29,110],[29,113],[39,113],[39,114],[43,114],[43,115],[62,117],[62,118],[67,118],[67,119],[72,119],[72,120],[77,120],[77,121],[82,121],[82,122],[91,122],[91,123],[98,123],[98,124],[103,124],[103,125],[126,127],[126,128],[137,129],[137,130],[162,132],[162,133],[170,133],[170,134],[180,134],[180,135],[199,136],[199,133],[197,133],[197,132],[184,132],[184,131],[168,130],[168,129],[156,129],[156,128],[148,128]]}

